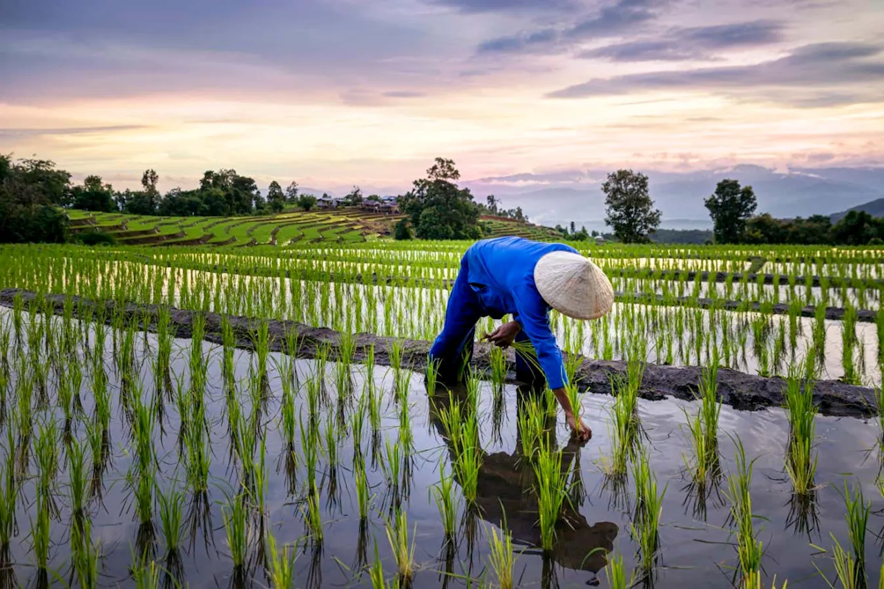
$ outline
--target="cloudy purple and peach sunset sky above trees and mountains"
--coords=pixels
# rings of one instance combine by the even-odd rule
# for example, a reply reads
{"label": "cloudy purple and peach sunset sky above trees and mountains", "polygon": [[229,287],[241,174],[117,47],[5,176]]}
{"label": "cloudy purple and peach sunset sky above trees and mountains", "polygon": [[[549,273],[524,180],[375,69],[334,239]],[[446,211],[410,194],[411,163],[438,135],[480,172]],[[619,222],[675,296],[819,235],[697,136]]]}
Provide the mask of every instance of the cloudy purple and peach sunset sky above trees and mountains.
{"label": "cloudy purple and peach sunset sky above trees and mountains", "polygon": [[0,0],[0,80],[115,188],[884,165],[881,0]]}

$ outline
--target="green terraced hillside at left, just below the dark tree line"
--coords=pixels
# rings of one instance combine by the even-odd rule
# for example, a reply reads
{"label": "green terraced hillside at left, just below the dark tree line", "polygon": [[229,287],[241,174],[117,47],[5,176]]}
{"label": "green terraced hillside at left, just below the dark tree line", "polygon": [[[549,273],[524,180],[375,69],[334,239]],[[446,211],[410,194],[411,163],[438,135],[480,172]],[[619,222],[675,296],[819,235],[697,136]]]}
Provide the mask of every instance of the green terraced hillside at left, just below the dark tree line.
{"label": "green terraced hillside at left, just below the dark tree line", "polygon": [[287,212],[263,217],[152,217],[69,211],[72,233],[103,231],[120,245],[289,246],[299,241],[355,243],[390,232],[400,217],[359,210]]}

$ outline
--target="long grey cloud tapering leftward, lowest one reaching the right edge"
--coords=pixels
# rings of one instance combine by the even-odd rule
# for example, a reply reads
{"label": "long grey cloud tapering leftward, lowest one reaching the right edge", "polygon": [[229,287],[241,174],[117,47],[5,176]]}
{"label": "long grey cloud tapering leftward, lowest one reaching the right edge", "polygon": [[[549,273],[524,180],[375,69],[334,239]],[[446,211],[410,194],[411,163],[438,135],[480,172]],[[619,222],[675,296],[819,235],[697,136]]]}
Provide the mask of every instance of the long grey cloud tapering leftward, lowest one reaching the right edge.
{"label": "long grey cloud tapering leftward, lowest one reaching the right edge", "polygon": [[[882,47],[828,42],[805,45],[788,56],[756,65],[726,65],[691,70],[633,73],[596,78],[556,90],[552,98],[611,96],[667,89],[706,90],[729,96],[761,96],[796,106],[834,105],[880,100],[884,63]],[[855,87],[850,88],[850,84]],[[839,88],[833,91],[830,88]]]}

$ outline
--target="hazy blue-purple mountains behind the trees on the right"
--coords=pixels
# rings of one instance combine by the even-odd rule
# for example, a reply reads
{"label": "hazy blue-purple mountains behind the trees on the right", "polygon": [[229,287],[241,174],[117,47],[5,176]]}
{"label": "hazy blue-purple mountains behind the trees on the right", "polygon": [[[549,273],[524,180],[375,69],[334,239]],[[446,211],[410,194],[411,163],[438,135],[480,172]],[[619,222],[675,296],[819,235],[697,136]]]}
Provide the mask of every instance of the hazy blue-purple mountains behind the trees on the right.
{"label": "hazy blue-purple mountains behind the trees on the right", "polygon": [[[641,171],[641,170],[636,170]],[[463,182],[476,201],[496,195],[505,209],[521,206],[532,222],[547,226],[605,229],[605,195],[601,185],[608,171],[582,170],[550,174],[516,174]],[[651,196],[670,229],[712,226],[703,201],[725,178],[750,185],[758,197],[758,213],[795,218],[827,215],[833,203],[842,209],[884,198],[884,167],[801,168],[776,172],[759,165],[736,165],[701,172],[654,172],[648,175]]]}

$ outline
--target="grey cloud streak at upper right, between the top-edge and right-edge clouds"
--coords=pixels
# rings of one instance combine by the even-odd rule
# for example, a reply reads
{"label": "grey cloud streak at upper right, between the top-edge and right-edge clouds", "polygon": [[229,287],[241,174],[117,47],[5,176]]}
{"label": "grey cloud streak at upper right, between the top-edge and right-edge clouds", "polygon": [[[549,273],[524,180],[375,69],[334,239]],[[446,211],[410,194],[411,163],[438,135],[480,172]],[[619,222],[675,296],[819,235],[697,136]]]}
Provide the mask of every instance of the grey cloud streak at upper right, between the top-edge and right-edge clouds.
{"label": "grey cloud streak at upper right, between the top-edge and right-edge clouds", "polygon": [[720,50],[780,42],[783,29],[781,22],[773,20],[674,28],[663,34],[662,38],[606,45],[583,51],[577,57],[618,62],[713,59]]}

